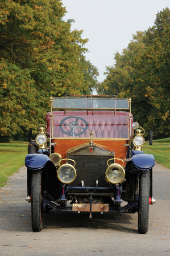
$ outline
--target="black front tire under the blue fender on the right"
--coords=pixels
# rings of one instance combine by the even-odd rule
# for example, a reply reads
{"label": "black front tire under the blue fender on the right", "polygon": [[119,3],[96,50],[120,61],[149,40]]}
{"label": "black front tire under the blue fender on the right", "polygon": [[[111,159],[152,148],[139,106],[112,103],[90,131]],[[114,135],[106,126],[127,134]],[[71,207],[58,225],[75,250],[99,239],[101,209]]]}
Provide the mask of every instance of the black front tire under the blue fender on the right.
{"label": "black front tire under the blue fender on the right", "polygon": [[138,232],[146,234],[149,222],[150,173],[149,170],[140,170],[139,180],[139,211]]}

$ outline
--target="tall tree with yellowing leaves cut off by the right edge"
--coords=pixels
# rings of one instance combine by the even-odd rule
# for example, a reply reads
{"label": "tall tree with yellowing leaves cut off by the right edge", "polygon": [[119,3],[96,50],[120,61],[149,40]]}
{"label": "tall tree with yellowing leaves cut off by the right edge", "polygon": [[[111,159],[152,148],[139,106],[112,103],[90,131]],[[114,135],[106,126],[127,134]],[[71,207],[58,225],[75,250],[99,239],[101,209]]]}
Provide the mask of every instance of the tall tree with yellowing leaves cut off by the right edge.
{"label": "tall tree with yellowing leaves cut off by the right edge", "polygon": [[140,87],[151,105],[146,122],[156,137],[170,135],[170,10],[156,15],[154,26],[146,31],[145,49],[136,60]]}

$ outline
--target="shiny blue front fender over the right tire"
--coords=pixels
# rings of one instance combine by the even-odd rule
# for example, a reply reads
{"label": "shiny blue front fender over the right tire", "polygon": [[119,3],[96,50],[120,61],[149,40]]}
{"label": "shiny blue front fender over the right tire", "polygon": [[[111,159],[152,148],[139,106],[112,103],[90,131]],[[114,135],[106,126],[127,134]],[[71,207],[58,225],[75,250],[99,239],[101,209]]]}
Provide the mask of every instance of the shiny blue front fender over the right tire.
{"label": "shiny blue front fender over the right tire", "polygon": [[132,156],[128,162],[130,161],[132,161],[134,166],[140,170],[149,170],[155,165],[154,156],[148,154],[139,154]]}

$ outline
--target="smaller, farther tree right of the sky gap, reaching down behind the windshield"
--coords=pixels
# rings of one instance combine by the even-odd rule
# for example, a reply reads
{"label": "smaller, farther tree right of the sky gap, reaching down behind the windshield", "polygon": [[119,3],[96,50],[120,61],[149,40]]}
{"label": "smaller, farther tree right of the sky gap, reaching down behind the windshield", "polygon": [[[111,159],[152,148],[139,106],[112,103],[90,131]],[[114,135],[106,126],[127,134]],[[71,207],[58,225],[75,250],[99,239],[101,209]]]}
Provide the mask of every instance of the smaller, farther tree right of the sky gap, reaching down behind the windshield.
{"label": "smaller, farther tree right of the sky gap, reaching down behind the windshield", "polygon": [[[145,32],[138,31],[136,35],[132,36],[131,42],[127,48],[123,49],[122,55],[119,52],[114,55],[115,64],[113,67],[107,67],[106,79],[98,87],[98,92],[105,95],[114,95],[115,92],[118,92],[120,98],[131,97],[134,120],[145,125],[144,118],[149,106],[146,103],[143,87],[139,86],[136,69],[136,58],[145,48],[143,43]],[[138,86],[139,88],[136,90]],[[138,113],[140,113],[140,117]]]}

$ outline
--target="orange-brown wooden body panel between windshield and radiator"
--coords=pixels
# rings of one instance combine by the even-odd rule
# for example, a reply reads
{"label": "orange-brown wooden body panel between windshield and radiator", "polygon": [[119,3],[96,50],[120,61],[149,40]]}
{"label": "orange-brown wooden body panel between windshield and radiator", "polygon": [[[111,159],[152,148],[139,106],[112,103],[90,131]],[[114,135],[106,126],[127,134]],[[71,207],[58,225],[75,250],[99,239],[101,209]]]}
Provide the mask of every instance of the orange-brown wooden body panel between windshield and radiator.
{"label": "orange-brown wooden body panel between windshield and radiator", "polygon": [[[81,145],[84,143],[88,143],[90,140],[73,140],[73,139],[65,139],[65,140],[55,140],[57,145],[55,146],[55,152],[59,153],[63,159],[66,157],[66,152],[68,149],[76,147],[77,145]],[[126,159],[126,148],[124,144],[127,143],[126,140],[95,140],[94,143],[103,145],[109,149],[114,150],[115,158],[118,159]]]}

